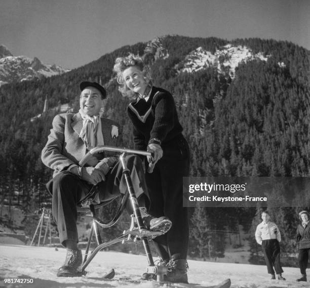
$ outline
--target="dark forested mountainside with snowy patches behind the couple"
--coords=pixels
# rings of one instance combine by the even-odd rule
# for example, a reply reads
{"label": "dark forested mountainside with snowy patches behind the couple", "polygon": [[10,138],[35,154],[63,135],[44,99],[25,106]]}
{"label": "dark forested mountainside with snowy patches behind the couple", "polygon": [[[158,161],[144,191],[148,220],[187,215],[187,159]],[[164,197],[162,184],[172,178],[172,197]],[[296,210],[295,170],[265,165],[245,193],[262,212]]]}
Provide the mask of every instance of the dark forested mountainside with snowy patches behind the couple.
{"label": "dark forested mountainside with snowy patches behind the couple", "polygon": [[[3,85],[2,200],[17,201],[28,211],[48,201],[45,183],[52,172],[42,164],[40,153],[53,116],[78,111],[83,80],[106,87],[105,116],[123,126],[122,145],[133,146],[126,114],[129,100],[120,95],[112,72],[115,58],[128,53],[142,56],[151,67],[153,84],[173,94],[190,145],[191,176],[309,176],[310,52],[276,40],[228,42],[168,35],[122,47],[62,75]],[[49,109],[43,113],[46,98]],[[231,222],[248,229],[258,211],[221,210],[221,219],[219,209],[193,215],[213,229],[231,228]],[[286,213],[294,222],[288,239],[297,221],[291,212]]]}

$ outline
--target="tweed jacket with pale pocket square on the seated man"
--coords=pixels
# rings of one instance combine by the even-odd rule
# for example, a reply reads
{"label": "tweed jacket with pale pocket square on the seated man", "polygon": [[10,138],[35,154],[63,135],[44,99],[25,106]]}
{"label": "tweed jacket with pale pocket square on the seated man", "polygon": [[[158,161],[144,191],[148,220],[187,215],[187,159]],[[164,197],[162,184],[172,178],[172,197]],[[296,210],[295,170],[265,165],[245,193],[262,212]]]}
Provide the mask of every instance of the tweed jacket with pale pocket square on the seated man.
{"label": "tweed jacket with pale pocket square on the seated man", "polygon": [[[117,146],[120,135],[112,136],[115,126],[120,131],[117,122],[101,118],[104,145]],[[84,140],[80,137],[83,119],[80,113],[63,113],[53,119],[53,128],[48,136],[48,142],[42,150],[43,163],[54,170],[53,177],[65,171],[71,164],[78,164],[88,152]],[[117,133],[117,134],[118,134]],[[106,156],[113,156],[114,152],[106,152]]]}

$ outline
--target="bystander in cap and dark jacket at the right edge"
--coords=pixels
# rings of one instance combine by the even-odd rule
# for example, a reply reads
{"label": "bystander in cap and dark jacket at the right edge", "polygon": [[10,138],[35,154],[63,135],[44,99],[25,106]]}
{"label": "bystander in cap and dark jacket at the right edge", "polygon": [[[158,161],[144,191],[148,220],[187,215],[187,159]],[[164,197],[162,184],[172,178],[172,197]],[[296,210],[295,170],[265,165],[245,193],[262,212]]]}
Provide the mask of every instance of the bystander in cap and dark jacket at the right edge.
{"label": "bystander in cap and dark jacket at the right edge", "polygon": [[296,231],[296,241],[299,244],[298,262],[301,272],[301,278],[297,281],[307,281],[306,268],[308,265],[309,253],[310,253],[310,225],[309,214],[307,211],[301,211],[299,213],[301,224],[298,224]]}

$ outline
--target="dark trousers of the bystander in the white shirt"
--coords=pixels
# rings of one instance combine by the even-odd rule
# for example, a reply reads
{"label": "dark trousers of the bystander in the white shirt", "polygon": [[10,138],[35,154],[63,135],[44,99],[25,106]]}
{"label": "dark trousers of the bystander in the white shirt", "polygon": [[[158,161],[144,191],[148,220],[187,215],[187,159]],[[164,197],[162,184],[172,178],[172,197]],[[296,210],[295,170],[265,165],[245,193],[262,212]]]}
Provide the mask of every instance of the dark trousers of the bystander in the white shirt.
{"label": "dark trousers of the bystander in the white shirt", "polygon": [[[280,244],[277,239],[263,240],[261,243],[261,248],[264,253],[265,262],[267,265],[267,270],[269,274],[283,273],[280,264]],[[275,270],[274,270],[275,267]]]}

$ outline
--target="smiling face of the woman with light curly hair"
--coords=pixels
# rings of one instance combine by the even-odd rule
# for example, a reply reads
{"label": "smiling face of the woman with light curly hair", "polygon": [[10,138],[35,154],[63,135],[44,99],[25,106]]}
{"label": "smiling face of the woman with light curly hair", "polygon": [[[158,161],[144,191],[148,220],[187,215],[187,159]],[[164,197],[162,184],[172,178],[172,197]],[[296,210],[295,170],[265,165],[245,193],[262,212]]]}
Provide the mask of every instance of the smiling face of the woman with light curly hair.
{"label": "smiling face of the woman with light curly hair", "polygon": [[125,69],[123,71],[123,78],[131,91],[143,95],[147,87],[147,82],[143,72],[137,66],[130,66]]}

